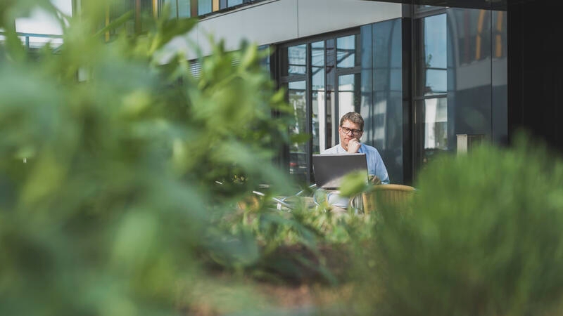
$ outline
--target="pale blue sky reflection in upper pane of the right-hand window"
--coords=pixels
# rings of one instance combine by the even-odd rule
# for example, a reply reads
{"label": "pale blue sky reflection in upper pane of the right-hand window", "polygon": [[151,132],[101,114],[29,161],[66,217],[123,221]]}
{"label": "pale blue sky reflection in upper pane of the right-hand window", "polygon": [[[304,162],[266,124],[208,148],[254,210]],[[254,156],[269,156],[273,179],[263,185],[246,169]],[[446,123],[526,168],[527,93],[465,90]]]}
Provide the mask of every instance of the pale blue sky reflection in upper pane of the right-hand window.
{"label": "pale blue sky reflection in upper pane of the right-hand window", "polygon": [[424,48],[426,49],[426,62],[430,63],[430,67],[446,67],[445,14],[434,15],[424,19]]}

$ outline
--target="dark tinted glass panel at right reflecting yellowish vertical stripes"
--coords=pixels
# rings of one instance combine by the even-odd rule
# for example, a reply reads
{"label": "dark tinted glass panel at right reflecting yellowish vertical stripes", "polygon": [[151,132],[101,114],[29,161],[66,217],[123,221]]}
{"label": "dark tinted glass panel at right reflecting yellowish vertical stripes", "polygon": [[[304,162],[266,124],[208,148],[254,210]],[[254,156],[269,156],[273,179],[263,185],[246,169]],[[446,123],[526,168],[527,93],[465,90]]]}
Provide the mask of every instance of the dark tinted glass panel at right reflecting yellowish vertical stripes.
{"label": "dark tinted glass panel at right reflecting yellowish vertical stripes", "polygon": [[[506,99],[499,98],[493,108],[491,60],[491,11],[448,8],[448,133],[450,148],[457,147],[457,134],[491,136],[492,113],[507,120],[503,108]],[[500,61],[500,60],[499,60]],[[497,64],[496,60],[494,64]],[[501,72],[507,71],[501,65]],[[506,78],[506,77],[504,77]],[[505,93],[505,88],[499,92]],[[501,97],[499,95],[499,97]],[[497,112],[500,110],[501,112]],[[502,113],[504,112],[504,113]]]}

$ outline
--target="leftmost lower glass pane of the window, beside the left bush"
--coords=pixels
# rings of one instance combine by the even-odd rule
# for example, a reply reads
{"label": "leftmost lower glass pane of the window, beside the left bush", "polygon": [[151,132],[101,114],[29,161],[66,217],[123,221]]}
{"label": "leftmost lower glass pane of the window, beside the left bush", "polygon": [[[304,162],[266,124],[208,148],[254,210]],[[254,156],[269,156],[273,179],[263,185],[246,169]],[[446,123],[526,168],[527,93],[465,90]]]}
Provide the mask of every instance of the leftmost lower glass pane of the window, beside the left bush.
{"label": "leftmost lower glass pane of the window, beside the left bush", "polygon": [[[289,82],[289,104],[293,107],[295,121],[289,126],[289,134],[307,133],[307,102],[305,81]],[[289,173],[299,183],[308,181],[309,166],[307,143],[293,143],[289,147]]]}

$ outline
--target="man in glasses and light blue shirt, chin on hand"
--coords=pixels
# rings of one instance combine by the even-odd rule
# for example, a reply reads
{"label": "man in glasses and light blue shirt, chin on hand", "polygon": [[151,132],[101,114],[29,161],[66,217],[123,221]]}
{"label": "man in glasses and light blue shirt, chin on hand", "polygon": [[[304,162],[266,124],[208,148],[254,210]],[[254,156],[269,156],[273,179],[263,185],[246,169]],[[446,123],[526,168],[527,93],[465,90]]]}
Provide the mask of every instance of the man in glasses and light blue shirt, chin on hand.
{"label": "man in glasses and light blue shirt, chin on hand", "polygon": [[357,112],[348,112],[340,119],[339,135],[340,143],[334,147],[324,150],[322,154],[353,154],[360,152],[365,154],[367,159],[367,173],[375,175],[381,183],[388,184],[389,176],[387,169],[381,159],[381,155],[372,146],[360,143],[360,138],[364,133],[364,119]]}

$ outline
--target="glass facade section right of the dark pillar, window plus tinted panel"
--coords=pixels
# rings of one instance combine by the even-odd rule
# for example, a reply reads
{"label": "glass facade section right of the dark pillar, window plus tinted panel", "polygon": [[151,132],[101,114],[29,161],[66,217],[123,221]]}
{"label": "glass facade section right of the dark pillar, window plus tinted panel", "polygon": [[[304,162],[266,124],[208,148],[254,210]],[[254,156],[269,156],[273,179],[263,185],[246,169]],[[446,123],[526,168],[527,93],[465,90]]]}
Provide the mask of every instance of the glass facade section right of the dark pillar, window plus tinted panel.
{"label": "glass facade section right of the dark pillar, window plus tinted panel", "polygon": [[506,13],[445,8],[415,20],[415,176],[457,135],[507,140]]}

